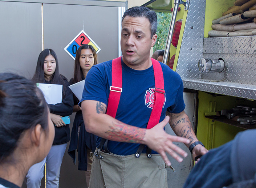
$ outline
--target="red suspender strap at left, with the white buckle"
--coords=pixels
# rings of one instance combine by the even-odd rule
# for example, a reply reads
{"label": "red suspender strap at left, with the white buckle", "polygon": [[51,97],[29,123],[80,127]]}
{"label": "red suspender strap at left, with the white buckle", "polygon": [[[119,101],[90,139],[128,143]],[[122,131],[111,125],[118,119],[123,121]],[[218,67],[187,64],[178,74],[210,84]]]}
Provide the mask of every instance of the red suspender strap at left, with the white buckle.
{"label": "red suspender strap at left, with the white buckle", "polygon": [[[112,86],[122,88],[122,57],[112,60]],[[111,88],[113,90],[121,91],[121,89]],[[110,91],[109,102],[107,104],[107,114],[115,118],[117,108],[120,101],[121,93]]]}

